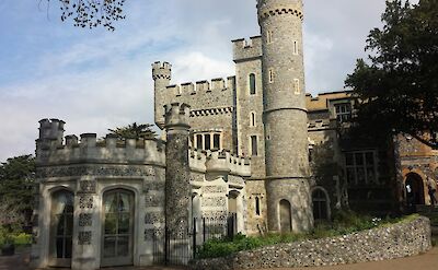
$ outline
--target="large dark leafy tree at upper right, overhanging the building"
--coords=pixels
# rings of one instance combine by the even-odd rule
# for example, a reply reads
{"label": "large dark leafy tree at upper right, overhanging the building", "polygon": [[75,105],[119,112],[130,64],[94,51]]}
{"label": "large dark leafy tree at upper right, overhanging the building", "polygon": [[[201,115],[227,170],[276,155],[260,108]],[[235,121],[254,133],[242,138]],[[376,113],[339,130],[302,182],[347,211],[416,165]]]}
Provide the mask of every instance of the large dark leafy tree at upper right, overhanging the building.
{"label": "large dark leafy tree at upper right, overhanging the building", "polygon": [[438,148],[438,1],[387,1],[381,19],[367,39],[368,61],[358,59],[345,82],[356,97],[355,127]]}

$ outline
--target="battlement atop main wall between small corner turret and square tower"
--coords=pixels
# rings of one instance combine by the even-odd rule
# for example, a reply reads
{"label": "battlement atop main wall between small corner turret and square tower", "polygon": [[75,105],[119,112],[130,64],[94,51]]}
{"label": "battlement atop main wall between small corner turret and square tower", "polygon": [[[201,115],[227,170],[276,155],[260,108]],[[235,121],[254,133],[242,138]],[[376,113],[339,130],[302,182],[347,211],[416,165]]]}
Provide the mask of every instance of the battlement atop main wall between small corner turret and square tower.
{"label": "battlement atop main wall between small corner turret and square tower", "polygon": [[174,97],[182,95],[195,95],[197,93],[211,93],[218,91],[228,91],[234,87],[235,78],[229,77],[227,81],[222,78],[212,79],[211,81],[203,80],[186,82],[182,84],[169,85],[168,92],[171,92]]}

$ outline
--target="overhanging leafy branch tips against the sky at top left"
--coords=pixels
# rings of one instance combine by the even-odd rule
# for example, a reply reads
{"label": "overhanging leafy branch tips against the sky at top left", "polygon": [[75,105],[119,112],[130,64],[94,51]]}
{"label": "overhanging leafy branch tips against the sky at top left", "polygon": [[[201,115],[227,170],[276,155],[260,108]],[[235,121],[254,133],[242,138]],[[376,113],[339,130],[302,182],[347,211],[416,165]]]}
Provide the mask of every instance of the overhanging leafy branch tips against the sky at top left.
{"label": "overhanging leafy branch tips against the sky at top left", "polygon": [[47,2],[47,7],[53,1],[59,1],[61,21],[72,19],[73,25],[78,27],[104,26],[108,31],[114,31],[113,22],[124,20],[123,8],[126,0],[38,0]]}

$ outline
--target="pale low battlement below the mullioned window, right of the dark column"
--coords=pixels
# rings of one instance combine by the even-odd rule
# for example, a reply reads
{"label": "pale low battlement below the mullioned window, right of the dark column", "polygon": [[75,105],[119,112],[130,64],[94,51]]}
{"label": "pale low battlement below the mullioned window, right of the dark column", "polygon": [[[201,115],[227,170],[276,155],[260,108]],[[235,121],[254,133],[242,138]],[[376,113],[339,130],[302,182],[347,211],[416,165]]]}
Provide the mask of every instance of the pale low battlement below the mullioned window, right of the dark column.
{"label": "pale low battlement below the mullioned window, right of the dark column", "polygon": [[191,169],[200,173],[251,176],[251,160],[231,154],[229,151],[201,151],[189,149]]}

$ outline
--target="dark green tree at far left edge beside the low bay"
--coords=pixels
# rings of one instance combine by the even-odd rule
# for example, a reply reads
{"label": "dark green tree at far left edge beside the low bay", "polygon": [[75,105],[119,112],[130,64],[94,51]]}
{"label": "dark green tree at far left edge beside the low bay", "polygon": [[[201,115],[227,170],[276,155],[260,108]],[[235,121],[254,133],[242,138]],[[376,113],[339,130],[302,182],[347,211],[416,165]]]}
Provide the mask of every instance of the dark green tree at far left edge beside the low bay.
{"label": "dark green tree at far left edge beside the low bay", "polygon": [[0,165],[0,207],[2,218],[10,222],[27,223],[33,210],[35,159],[22,155],[8,159]]}

